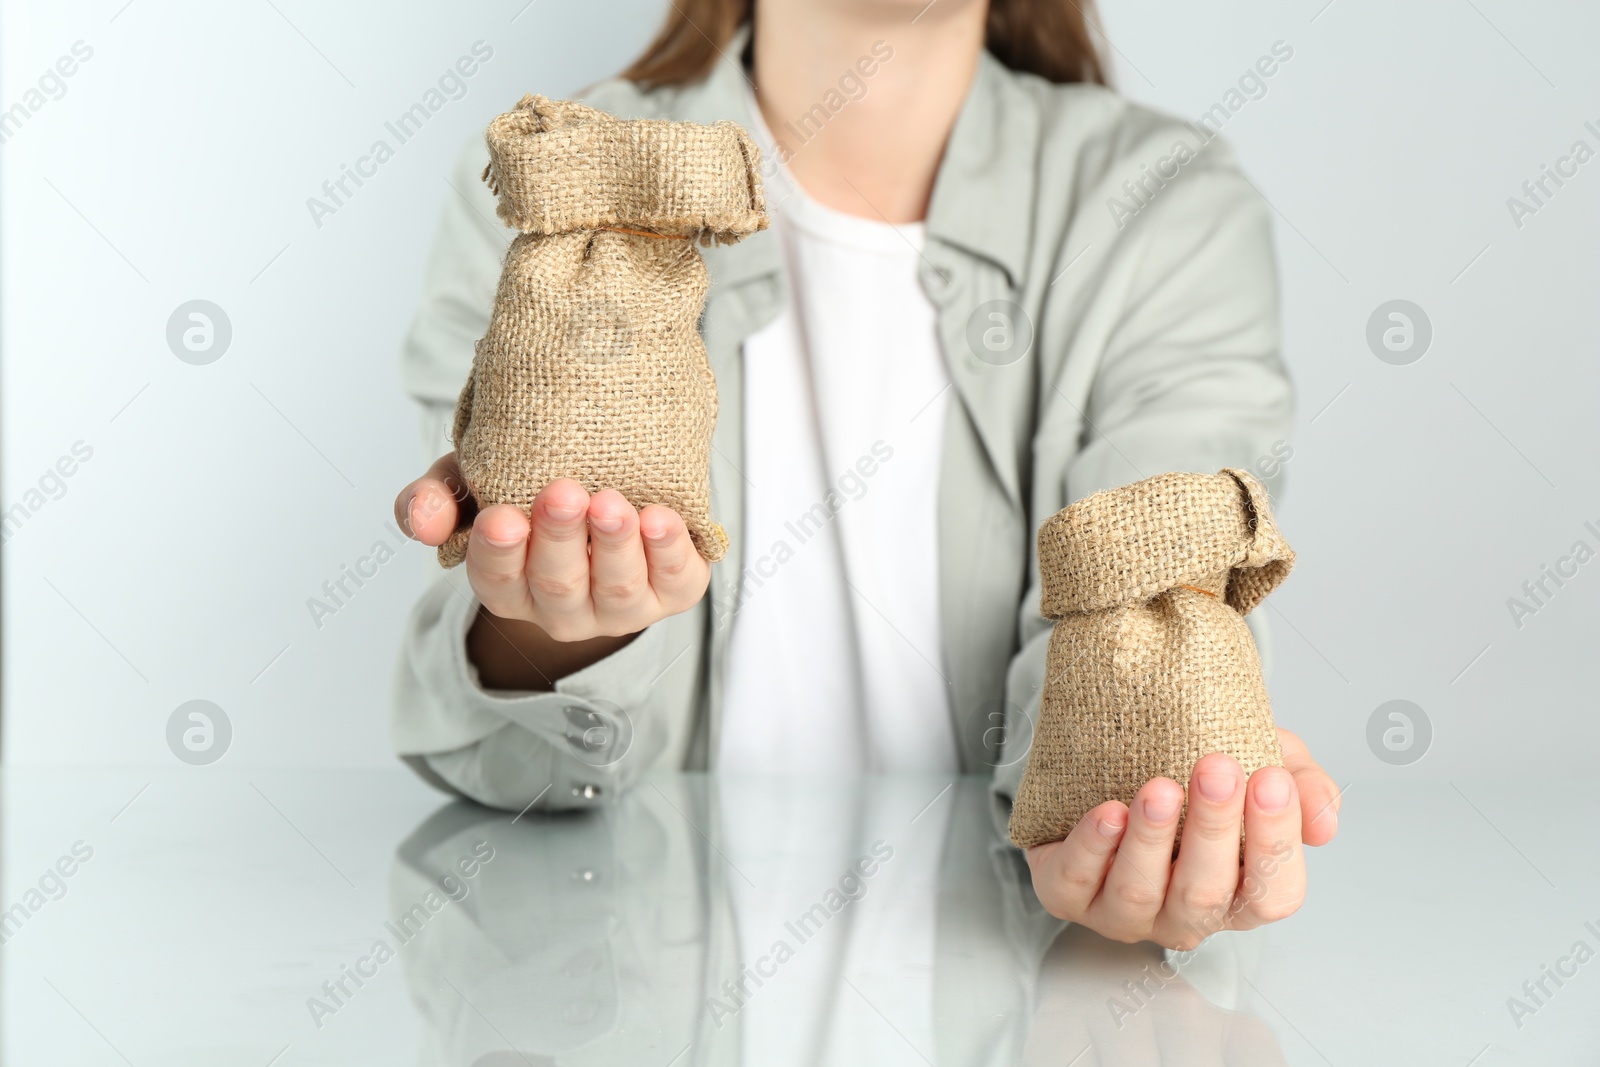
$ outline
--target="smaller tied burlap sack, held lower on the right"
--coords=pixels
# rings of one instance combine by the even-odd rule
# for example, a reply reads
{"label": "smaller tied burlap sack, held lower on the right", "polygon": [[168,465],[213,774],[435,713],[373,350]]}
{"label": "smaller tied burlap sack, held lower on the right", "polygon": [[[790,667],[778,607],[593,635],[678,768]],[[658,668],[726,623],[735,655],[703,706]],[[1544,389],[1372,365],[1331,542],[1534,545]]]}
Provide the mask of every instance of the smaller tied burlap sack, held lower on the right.
{"label": "smaller tied burlap sack, held lower on the right", "polygon": [[1152,777],[1187,787],[1211,752],[1246,774],[1282,765],[1245,614],[1291,566],[1245,470],[1163,474],[1045,522],[1040,613],[1056,625],[1011,841],[1059,841]]}

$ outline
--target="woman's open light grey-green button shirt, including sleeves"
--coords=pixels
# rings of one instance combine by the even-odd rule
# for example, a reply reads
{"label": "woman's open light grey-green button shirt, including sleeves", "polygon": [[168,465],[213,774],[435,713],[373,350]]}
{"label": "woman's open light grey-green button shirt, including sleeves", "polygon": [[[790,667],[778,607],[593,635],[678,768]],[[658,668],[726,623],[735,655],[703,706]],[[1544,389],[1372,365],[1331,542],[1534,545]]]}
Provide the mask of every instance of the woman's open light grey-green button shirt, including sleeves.
{"label": "woman's open light grey-green button shirt, including sleeves", "polygon": [[[726,48],[742,51],[741,40]],[[750,123],[746,74],[584,101],[621,117]],[[429,456],[488,326],[510,234],[474,142],[451,179],[405,344]],[[392,718],[429,781],[522,809],[603,803],[651,766],[714,763],[744,569],[741,344],[786,299],[771,234],[706,250],[701,331],[717,374],[712,514],[726,558],[693,609],[648,627],[550,693],[486,691],[466,659],[477,601],[461,569],[413,611]],[[938,307],[954,403],[938,502],[949,713],[966,773],[1010,795],[1038,710],[1048,622],[1038,525],[1072,501],[1166,470],[1264,470],[1290,430],[1269,208],[1226,144],[1093,85],[1053,85],[987,53],[926,216],[922,283]],[[1005,315],[1008,344],[982,331]],[[826,669],[826,665],[819,665]]]}

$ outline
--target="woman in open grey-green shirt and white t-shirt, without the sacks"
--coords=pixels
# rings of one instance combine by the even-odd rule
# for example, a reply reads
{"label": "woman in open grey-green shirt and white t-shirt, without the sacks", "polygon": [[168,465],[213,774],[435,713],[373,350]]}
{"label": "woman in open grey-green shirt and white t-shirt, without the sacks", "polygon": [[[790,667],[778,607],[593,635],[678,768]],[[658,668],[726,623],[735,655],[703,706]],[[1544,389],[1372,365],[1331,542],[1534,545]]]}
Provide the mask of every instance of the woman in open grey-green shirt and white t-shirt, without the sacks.
{"label": "woman in open grey-green shirt and white t-shirt, without the sacks", "polygon": [[[662,507],[542,490],[485,509],[466,582],[418,606],[395,742],[509,809],[603,801],[648,766],[1026,765],[1048,627],[1034,531],[1163,470],[1286,435],[1267,210],[1227,149],[1101,85],[1074,0],[677,0],[622,117],[763,142],[776,234],[707,251],[722,398],[717,568]],[[406,349],[429,440],[482,336],[506,234],[469,147]],[[445,456],[395,501],[438,544]],[[1293,912],[1338,792],[1293,734],[1245,781],[1211,755],[1029,849],[1056,915],[1190,947]],[[1245,833],[1240,875],[1238,835]]]}

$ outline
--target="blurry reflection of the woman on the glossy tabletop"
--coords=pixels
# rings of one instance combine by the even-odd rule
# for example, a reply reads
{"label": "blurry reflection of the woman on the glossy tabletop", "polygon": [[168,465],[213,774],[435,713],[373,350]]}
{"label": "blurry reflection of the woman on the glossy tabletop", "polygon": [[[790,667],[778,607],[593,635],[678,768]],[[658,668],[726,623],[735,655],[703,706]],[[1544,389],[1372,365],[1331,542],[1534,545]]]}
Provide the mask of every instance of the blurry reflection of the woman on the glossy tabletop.
{"label": "blurry reflection of the woman on the glossy tabletop", "polygon": [[1179,960],[1067,928],[976,779],[448,805],[397,848],[386,918],[424,1064],[1285,1062],[1254,936]]}

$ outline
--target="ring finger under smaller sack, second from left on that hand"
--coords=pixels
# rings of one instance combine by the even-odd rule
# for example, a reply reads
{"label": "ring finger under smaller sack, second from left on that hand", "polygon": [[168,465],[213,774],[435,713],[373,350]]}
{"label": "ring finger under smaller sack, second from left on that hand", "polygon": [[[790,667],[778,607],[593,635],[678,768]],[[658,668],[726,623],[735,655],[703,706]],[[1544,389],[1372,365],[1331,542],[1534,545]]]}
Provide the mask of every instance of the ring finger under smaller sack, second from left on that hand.
{"label": "ring finger under smaller sack, second from left on that hand", "polygon": [[1128,830],[1106,875],[1106,888],[1090,907],[1090,925],[1115,941],[1142,941],[1166,899],[1173,870],[1173,840],[1182,787],[1154,777],[1128,805]]}

